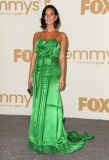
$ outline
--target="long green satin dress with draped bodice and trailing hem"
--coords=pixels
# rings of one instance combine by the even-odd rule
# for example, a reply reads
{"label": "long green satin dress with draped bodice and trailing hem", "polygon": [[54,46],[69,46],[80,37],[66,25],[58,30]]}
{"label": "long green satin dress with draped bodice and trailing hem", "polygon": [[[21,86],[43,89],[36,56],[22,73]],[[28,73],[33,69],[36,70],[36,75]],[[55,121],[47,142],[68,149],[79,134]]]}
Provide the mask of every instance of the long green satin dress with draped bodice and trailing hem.
{"label": "long green satin dress with draped bodice and trailing hem", "polygon": [[33,72],[33,102],[28,145],[42,153],[68,154],[84,147],[92,139],[86,132],[66,132],[59,92],[61,68],[60,44],[56,38],[38,38]]}

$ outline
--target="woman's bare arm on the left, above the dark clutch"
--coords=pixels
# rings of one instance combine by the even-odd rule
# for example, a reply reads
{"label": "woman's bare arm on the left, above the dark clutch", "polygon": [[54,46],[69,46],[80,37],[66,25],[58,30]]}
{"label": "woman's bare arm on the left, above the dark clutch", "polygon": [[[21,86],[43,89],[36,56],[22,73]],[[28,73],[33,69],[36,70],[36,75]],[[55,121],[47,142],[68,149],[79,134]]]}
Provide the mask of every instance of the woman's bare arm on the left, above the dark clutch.
{"label": "woman's bare arm on the left, above the dark clutch", "polygon": [[33,53],[32,53],[31,62],[30,62],[28,85],[32,85],[32,83],[33,83],[32,73],[33,73],[33,69],[34,69],[34,62],[35,62],[35,59],[36,59],[35,45],[36,45],[37,36],[38,36],[38,33],[35,33],[34,37],[33,37]]}

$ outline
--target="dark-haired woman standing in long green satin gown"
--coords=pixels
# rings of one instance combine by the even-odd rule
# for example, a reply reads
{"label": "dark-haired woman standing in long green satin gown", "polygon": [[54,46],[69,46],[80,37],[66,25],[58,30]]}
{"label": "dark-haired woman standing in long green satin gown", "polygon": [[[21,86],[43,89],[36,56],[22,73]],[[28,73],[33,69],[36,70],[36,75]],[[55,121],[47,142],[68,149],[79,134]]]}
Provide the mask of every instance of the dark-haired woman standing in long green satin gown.
{"label": "dark-haired woman standing in long green satin gown", "polygon": [[41,18],[43,31],[36,32],[33,38],[28,79],[28,85],[33,85],[28,145],[42,153],[68,154],[81,149],[93,136],[64,129],[60,90],[65,85],[67,38],[57,30],[59,24],[57,9],[46,6]]}

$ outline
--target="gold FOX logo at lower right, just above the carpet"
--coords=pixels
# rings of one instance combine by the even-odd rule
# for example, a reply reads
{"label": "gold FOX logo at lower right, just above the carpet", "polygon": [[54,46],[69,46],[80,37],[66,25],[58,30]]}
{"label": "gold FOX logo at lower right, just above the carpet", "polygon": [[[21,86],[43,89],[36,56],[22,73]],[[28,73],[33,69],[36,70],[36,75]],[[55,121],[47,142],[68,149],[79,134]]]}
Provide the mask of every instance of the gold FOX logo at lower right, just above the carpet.
{"label": "gold FOX logo at lower right, just above the carpet", "polygon": [[79,111],[88,108],[92,112],[109,112],[109,99],[79,97]]}

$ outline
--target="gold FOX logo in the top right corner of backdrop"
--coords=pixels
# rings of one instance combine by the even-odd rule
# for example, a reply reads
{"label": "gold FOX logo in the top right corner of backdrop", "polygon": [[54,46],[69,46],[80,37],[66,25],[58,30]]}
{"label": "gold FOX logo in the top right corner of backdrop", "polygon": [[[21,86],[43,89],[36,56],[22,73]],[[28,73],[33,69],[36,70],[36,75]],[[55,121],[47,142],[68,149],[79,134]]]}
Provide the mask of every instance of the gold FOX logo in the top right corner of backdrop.
{"label": "gold FOX logo in the top right corner of backdrop", "polygon": [[109,12],[109,0],[81,0],[81,15],[88,10],[93,14],[106,14]]}

